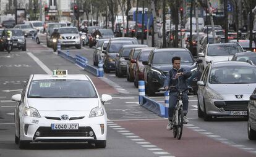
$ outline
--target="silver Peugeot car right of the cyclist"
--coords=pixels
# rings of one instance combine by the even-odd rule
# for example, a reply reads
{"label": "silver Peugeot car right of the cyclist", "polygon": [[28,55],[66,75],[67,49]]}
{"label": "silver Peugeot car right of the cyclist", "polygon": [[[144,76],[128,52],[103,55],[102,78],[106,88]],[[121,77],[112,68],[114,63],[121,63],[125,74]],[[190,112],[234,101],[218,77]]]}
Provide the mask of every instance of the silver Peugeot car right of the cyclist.
{"label": "silver Peugeot car right of the cyclist", "polygon": [[210,62],[197,84],[199,118],[210,121],[212,116],[247,116],[256,69],[246,62]]}

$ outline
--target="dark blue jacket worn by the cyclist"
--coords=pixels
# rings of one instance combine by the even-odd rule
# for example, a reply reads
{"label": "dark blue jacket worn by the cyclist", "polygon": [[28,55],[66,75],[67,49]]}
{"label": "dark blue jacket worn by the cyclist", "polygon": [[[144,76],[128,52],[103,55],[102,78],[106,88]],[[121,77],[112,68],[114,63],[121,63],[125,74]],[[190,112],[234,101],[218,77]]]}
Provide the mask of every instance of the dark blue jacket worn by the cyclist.
{"label": "dark blue jacket worn by the cyclist", "polygon": [[[183,75],[179,76],[179,86],[178,86],[178,80],[175,78],[176,73],[182,72]],[[191,76],[191,71],[186,70],[184,68],[180,68],[177,70],[176,68],[171,68],[171,70],[166,74],[166,79],[164,80],[164,86],[175,86],[177,89],[185,90],[187,89],[187,82],[186,79],[188,79]],[[177,89],[172,88],[170,92],[177,92]]]}

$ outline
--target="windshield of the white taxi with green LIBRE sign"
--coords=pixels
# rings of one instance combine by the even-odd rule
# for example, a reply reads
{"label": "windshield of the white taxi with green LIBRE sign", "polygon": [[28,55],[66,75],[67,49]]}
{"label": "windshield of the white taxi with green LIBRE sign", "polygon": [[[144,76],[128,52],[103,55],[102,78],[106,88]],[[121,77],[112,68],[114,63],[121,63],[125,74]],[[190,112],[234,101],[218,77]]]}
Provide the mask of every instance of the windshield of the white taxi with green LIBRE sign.
{"label": "windshield of the white taxi with green LIBRE sign", "polygon": [[30,98],[95,98],[90,81],[77,79],[34,80],[28,89]]}

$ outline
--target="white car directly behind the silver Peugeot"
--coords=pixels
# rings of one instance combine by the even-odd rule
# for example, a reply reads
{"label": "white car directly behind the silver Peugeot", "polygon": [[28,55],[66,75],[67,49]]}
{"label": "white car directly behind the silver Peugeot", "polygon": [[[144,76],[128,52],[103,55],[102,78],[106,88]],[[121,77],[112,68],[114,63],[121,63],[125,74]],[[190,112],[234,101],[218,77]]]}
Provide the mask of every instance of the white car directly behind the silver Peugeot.
{"label": "white car directly behind the silver Peugeot", "polygon": [[198,57],[203,60],[200,70],[203,71],[211,60],[214,62],[231,60],[238,52],[244,52],[238,43],[207,44],[204,51],[198,54]]}

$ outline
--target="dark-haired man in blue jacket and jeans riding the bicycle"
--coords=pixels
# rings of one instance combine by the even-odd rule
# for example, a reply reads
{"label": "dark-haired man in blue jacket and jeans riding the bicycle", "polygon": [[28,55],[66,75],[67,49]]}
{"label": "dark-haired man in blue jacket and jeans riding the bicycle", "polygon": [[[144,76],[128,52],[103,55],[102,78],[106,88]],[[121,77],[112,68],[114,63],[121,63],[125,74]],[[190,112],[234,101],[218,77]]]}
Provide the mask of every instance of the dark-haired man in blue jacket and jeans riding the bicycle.
{"label": "dark-haired man in blue jacket and jeans riding the bicycle", "polygon": [[[191,76],[191,71],[181,68],[181,58],[173,57],[172,58],[173,68],[167,73],[166,79],[164,80],[164,89],[168,90],[170,86],[175,86],[175,88],[171,88],[169,91],[169,121],[166,126],[166,129],[171,130],[171,126],[173,123],[173,115],[174,110],[177,104],[177,90],[182,89],[185,90],[188,88],[186,79]],[[189,97],[187,96],[187,91],[184,92],[183,96],[183,123],[188,123],[187,119],[187,109],[189,107]]]}

